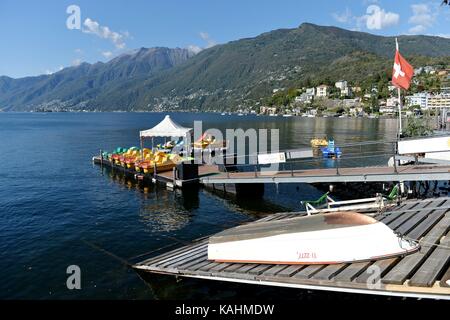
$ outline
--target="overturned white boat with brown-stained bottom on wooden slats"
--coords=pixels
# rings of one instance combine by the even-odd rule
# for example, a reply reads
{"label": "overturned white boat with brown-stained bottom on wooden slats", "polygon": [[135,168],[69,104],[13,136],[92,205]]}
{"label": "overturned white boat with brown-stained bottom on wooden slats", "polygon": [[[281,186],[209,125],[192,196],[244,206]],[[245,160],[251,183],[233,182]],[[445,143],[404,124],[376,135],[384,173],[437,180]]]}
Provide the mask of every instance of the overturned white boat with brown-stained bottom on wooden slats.
{"label": "overturned white boat with brown-stained bottom on wooden slats", "polygon": [[208,259],[217,262],[335,264],[406,255],[419,244],[384,223],[356,212],[255,222],[209,238]]}

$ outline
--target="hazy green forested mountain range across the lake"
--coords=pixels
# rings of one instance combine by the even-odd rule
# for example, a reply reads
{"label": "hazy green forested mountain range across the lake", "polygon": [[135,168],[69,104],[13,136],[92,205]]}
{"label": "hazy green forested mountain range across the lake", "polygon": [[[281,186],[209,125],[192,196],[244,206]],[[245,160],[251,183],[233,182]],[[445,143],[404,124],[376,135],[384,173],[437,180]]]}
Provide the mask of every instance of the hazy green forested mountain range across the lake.
{"label": "hazy green forested mountain range across the lake", "polygon": [[[449,61],[450,39],[400,36],[414,62]],[[304,23],[254,38],[187,49],[141,48],[107,63],[82,63],[51,75],[0,76],[0,109],[225,110],[255,104],[274,88],[389,72],[393,37]]]}

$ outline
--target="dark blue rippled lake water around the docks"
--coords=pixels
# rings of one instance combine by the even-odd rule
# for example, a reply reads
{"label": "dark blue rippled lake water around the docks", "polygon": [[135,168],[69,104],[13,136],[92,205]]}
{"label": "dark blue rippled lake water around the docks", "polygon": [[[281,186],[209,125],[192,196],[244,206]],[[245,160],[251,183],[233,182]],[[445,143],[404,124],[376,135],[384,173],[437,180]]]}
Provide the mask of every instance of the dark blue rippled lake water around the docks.
{"label": "dark blue rippled lake water around the docks", "polygon": [[[300,200],[321,195],[309,185],[280,185],[278,190],[267,186],[264,201],[225,200],[203,189],[142,189],[92,164],[99,149],[138,145],[139,130],[163,117],[158,113],[0,113],[0,298],[276,298],[288,290],[197,280],[177,283],[166,277],[144,282],[117,258],[137,262],[136,256],[143,253],[271,212],[298,210]],[[204,129],[278,128],[281,149],[309,146],[315,135],[333,136],[339,144],[389,140],[396,131],[395,120],[383,119],[189,113],[171,117],[189,127],[202,120]],[[389,153],[390,148],[375,145],[348,152]],[[387,157],[364,159],[357,161],[385,164]],[[81,268],[81,290],[66,287],[69,265]],[[289,291],[289,297],[301,296],[301,290]]]}

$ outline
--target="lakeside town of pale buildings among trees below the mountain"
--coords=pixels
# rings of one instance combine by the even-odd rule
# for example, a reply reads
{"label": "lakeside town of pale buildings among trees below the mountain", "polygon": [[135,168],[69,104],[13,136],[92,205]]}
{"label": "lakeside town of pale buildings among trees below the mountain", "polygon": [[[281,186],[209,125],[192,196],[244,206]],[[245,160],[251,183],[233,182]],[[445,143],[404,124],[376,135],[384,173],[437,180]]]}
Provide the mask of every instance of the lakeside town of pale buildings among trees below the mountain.
{"label": "lakeside town of pale buildings among trees below the mountain", "polygon": [[[424,66],[414,70],[411,94],[402,96],[405,115],[434,114],[450,109],[450,70]],[[398,113],[397,88],[373,84],[368,88],[352,85],[345,79],[315,87],[276,88],[272,97],[256,110],[239,113],[284,116],[393,117]]]}

